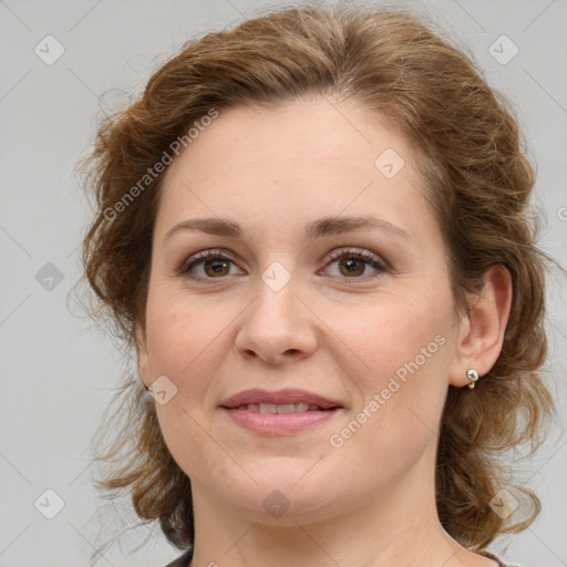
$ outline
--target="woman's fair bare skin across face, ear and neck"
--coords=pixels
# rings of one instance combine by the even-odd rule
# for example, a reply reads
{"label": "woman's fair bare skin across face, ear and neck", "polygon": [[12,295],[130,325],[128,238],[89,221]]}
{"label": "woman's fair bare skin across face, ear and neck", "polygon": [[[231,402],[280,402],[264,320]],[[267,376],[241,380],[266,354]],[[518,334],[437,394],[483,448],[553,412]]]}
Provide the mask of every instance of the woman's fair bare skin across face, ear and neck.
{"label": "woman's fair bare skin across face, ear and neck", "polygon": [[[374,166],[389,147],[405,161],[391,179]],[[156,411],[192,480],[192,565],[496,565],[443,529],[434,472],[450,384],[465,386],[470,368],[482,377],[501,352],[509,275],[491,271],[482,297],[457,315],[441,230],[406,141],[354,102],[236,107],[174,161],[162,192],[138,372],[147,386],[166,375],[177,388]],[[369,214],[406,237],[383,228],[303,233],[321,217]],[[244,237],[184,229],[166,237],[197,217],[228,218]],[[354,264],[357,280],[341,258],[328,258],[344,247],[389,267]],[[200,280],[179,274],[192,255],[216,248],[233,257],[220,276],[203,262],[189,272]],[[261,278],[272,262],[291,278],[278,291]],[[332,446],[330,436],[440,336],[419,370]],[[260,436],[218,408],[248,388],[302,388],[343,410],[293,435]],[[275,489],[290,503],[279,517],[262,506]]]}

